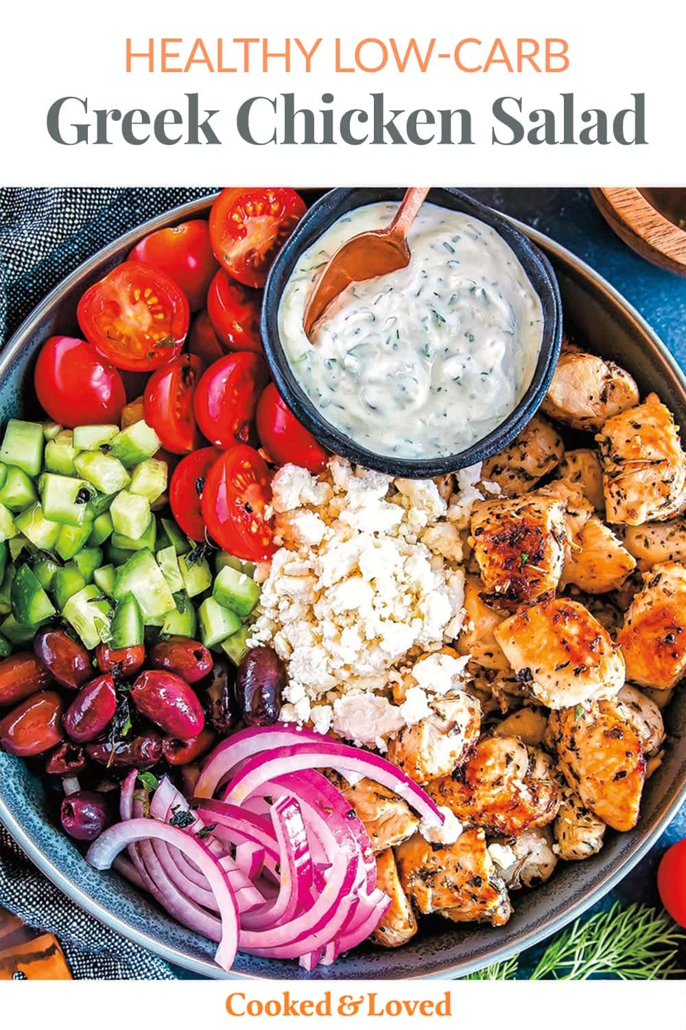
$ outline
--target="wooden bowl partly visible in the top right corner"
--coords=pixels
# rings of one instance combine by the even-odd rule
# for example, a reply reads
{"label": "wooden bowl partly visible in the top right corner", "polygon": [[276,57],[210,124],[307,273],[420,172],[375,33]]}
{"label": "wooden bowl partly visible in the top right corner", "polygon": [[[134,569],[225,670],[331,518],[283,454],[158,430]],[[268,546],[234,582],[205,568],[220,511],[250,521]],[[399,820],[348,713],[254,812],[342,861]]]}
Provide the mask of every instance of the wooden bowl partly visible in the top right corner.
{"label": "wooden bowl partly visible in the top right corner", "polygon": [[686,276],[686,187],[593,188],[590,195],[611,229],[638,254],[659,268]]}

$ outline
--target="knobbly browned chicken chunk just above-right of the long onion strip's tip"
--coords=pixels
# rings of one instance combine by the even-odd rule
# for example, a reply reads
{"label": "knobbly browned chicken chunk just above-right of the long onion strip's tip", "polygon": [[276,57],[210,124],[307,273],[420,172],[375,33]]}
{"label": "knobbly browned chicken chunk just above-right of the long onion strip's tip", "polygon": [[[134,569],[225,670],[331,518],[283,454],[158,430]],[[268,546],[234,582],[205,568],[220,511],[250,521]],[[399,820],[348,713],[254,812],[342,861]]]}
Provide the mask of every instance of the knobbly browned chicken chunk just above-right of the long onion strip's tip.
{"label": "knobbly browned chicken chunk just above-right of the long onion strip's tip", "polygon": [[428,786],[461,823],[482,826],[489,833],[518,836],[552,822],[559,786],[545,752],[527,748],[515,736],[480,741],[460,780],[442,777]]}

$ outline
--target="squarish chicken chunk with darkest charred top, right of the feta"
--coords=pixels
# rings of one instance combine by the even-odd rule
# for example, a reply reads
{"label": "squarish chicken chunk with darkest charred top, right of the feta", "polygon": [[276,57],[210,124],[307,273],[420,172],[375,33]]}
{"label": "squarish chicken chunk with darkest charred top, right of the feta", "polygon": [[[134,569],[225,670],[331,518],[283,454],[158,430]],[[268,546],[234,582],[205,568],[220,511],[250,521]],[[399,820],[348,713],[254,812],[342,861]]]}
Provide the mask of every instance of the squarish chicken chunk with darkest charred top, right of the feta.
{"label": "squarish chicken chunk with darkest charred top, right of the feta", "polygon": [[527,493],[474,505],[470,544],[484,585],[483,600],[513,610],[554,591],[565,563],[565,507]]}

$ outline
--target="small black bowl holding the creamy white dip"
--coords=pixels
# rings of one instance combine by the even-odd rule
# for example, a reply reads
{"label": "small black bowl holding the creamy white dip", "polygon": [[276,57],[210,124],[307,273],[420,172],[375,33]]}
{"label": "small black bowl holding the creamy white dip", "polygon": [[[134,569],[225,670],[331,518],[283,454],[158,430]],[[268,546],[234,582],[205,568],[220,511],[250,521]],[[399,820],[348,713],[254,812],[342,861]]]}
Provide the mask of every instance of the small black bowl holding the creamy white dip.
{"label": "small black bowl holding the creamy white dip", "polygon": [[454,211],[464,211],[484,221],[503,237],[518,258],[540,298],[543,308],[543,337],[529,389],[514,411],[497,428],[459,454],[444,457],[419,459],[376,454],[331,425],[317,410],[291,372],[279,337],[281,296],[303,250],[319,239],[341,215],[365,204],[388,200],[400,201],[403,194],[404,190],[401,187],[361,186],[352,190],[331,190],[313,204],[272,266],[264,287],[261,334],[264,353],[281,396],[300,422],[328,450],[349,458],[356,465],[363,465],[392,476],[428,479],[491,457],[506,447],[522,431],[543,401],[557,364],[563,312],[554,272],[538,247],[492,208],[484,207],[459,190],[434,187],[428,197],[430,203]]}

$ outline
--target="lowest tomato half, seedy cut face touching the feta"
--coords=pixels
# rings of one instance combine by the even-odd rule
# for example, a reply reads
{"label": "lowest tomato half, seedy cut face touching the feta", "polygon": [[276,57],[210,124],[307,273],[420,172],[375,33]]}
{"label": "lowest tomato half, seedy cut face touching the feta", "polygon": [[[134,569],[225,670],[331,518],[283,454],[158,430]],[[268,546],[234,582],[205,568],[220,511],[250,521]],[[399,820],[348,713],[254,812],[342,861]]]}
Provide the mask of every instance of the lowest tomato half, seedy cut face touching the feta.
{"label": "lowest tomato half, seedy cut face touching the feta", "polygon": [[239,444],[207,473],[201,510],[208,533],[221,548],[247,561],[262,561],[276,550],[270,501],[264,460],[254,448]]}

